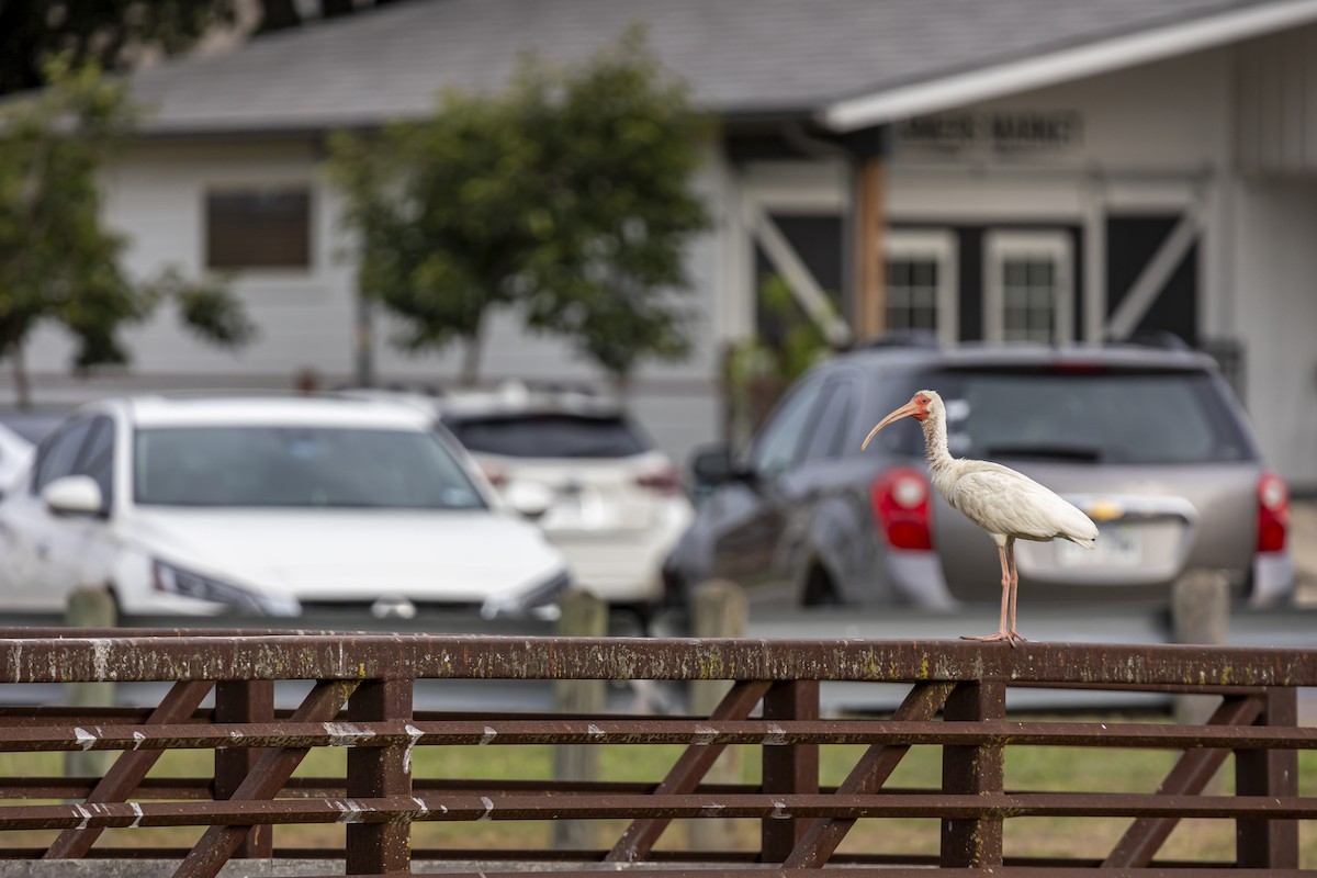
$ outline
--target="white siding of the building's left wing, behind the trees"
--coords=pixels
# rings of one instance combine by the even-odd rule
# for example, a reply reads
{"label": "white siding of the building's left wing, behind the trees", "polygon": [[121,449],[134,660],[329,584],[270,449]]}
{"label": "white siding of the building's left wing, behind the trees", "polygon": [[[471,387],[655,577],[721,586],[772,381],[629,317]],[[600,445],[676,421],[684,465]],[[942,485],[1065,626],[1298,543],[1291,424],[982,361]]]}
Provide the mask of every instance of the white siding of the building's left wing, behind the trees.
{"label": "white siding of the building's left wing, behind the trees", "polygon": [[[233,288],[259,328],[238,351],[198,342],[179,328],[173,308],[122,333],[132,366],[91,380],[68,376],[71,341],[57,329],[38,330],[28,367],[38,399],[82,401],[115,392],[192,387],[291,388],[299,373],[315,371],[324,386],[352,380],[356,365],[356,279],[350,238],[340,228],[341,199],[327,183],[319,147],[311,141],[232,143],[145,143],[103,175],[107,222],[129,240],[128,269],[149,278],[167,266],[190,276],[203,271],[204,194],[213,186],[308,183],[312,188],[312,265],[304,271],[244,271]],[[693,353],[681,363],[645,363],[635,375],[632,408],[661,448],[684,458],[691,446],[716,438],[720,338],[716,291],[730,275],[720,254],[734,247],[735,217],[724,205],[735,186],[718,151],[710,149],[697,186],[710,199],[714,228],[690,247],[693,288],[682,297],[691,317]],[[443,386],[458,374],[460,350],[410,355],[391,344],[387,317],[375,330],[375,374],[381,383]],[[525,333],[510,313],[497,315],[482,358],[486,380],[605,384],[605,376],[556,338]]]}

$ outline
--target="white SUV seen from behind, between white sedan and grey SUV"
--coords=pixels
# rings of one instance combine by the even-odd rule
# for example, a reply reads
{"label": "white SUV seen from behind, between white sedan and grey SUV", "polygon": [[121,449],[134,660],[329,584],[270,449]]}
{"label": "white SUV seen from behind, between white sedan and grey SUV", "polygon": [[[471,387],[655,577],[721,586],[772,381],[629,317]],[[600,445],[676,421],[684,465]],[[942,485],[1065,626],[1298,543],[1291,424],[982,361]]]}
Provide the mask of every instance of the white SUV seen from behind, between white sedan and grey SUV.
{"label": "white SUV seen from behind, between white sedan and grey SUV", "polygon": [[579,587],[643,615],[664,600],[662,562],[694,509],[678,467],[624,411],[519,383],[432,404],[504,502],[562,549]]}

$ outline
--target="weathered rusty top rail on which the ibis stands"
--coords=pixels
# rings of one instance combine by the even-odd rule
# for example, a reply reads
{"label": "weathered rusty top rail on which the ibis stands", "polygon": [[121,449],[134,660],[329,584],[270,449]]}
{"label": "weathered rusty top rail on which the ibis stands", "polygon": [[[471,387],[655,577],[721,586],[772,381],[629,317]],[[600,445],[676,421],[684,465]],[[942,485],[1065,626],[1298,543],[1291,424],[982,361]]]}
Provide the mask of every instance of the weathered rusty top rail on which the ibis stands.
{"label": "weathered rusty top rail on which the ibis stands", "polygon": [[1242,646],[0,629],[0,682],[732,679],[1317,686],[1317,656]]}

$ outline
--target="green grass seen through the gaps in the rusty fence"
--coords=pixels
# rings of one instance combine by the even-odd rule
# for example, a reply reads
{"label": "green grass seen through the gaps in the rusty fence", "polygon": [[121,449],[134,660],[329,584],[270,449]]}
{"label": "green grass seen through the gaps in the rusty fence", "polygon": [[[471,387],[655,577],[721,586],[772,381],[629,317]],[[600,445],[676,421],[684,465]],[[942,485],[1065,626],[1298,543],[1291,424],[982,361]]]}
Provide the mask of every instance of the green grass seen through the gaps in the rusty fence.
{"label": "green grass seen through the gaps in the rusty fence", "polygon": [[[680,746],[605,746],[601,748],[601,775],[612,781],[658,781],[681,753]],[[839,783],[863,754],[863,746],[823,746],[820,775],[824,785]],[[1125,748],[1076,749],[1013,746],[1006,750],[1006,787],[1031,791],[1077,792],[1154,792],[1177,754]],[[58,775],[62,754],[0,754],[4,777]],[[715,769],[720,779],[759,781],[759,748],[732,748]],[[893,787],[938,787],[942,754],[936,746],[913,748],[889,781]],[[302,777],[342,777],[345,750],[312,752],[298,771]],[[203,777],[212,766],[212,754],[200,750],[176,750],[165,754],[153,777]],[[1227,758],[1213,791],[1233,791],[1233,758]],[[449,779],[548,779],[552,777],[553,754],[549,746],[449,746],[417,748],[414,754],[416,778]],[[1317,796],[1317,752],[1300,753],[1300,794]],[[13,800],[7,804],[17,804]],[[3,806],[0,806],[3,807]],[[1129,825],[1126,819],[1042,819],[1017,817],[1005,824],[1008,856],[1069,856],[1101,858]],[[594,824],[599,846],[611,845],[624,821]],[[200,829],[133,829],[111,831],[101,836],[101,845],[150,846],[190,845]],[[277,827],[279,846],[337,846],[344,828]],[[0,836],[0,846],[34,846],[47,844],[53,832],[12,832]],[[419,823],[412,828],[414,848],[508,849],[536,848],[551,844],[548,821],[479,821]],[[1312,823],[1300,824],[1303,867],[1317,867],[1317,831]],[[739,850],[759,845],[759,824],[752,820],[723,821],[720,844]],[[939,824],[936,820],[871,819],[861,820],[843,842],[840,852],[936,854]],[[677,821],[660,841],[660,849],[690,846],[690,827]],[[1234,857],[1234,832],[1229,823],[1210,820],[1184,821],[1163,846],[1160,857],[1184,860],[1230,860]]]}

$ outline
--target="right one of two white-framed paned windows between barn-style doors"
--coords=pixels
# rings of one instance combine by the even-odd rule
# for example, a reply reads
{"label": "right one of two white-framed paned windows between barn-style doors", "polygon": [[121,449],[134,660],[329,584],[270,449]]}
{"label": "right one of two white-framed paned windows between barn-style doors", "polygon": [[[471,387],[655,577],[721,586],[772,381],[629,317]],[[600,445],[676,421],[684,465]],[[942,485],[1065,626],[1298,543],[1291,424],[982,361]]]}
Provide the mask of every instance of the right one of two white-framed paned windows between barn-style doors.
{"label": "right one of two white-framed paned windows between barn-style doors", "polygon": [[1073,255],[1067,234],[990,232],[985,259],[988,341],[1073,341]]}

